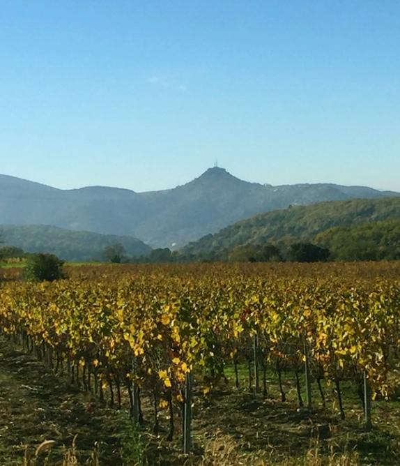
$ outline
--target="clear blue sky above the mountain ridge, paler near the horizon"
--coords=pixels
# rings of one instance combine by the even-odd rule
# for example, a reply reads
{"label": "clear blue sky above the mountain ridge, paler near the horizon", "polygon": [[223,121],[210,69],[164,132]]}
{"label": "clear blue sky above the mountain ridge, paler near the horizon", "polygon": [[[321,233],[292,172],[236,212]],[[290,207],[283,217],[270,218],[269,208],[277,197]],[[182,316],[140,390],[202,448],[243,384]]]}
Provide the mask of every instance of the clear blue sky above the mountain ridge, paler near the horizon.
{"label": "clear blue sky above the mountain ridge, paler near the horizon", "polygon": [[0,173],[400,190],[399,0],[0,0]]}

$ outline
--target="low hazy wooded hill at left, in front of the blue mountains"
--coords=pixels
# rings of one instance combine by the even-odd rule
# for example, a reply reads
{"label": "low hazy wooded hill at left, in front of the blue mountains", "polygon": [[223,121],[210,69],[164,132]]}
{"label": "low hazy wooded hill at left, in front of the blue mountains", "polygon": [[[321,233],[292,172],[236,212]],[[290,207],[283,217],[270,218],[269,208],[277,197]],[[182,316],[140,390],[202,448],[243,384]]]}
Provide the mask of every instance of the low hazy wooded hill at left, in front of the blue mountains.
{"label": "low hazy wooded hill at left, in front of the blue mountains", "polygon": [[93,232],[64,230],[48,225],[0,225],[1,246],[17,246],[27,253],[52,253],[63,260],[103,260],[106,246],[121,243],[129,257],[151,252],[139,239]]}

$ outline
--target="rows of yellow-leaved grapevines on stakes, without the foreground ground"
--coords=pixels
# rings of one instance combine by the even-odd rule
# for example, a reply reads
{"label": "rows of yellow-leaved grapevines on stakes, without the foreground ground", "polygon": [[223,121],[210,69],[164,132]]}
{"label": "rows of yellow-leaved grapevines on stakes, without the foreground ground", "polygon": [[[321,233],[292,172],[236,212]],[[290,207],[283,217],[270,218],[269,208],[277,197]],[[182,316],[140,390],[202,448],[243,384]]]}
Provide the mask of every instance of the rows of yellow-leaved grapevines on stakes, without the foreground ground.
{"label": "rows of yellow-leaved grapevines on stakes, without the foreground ground", "polygon": [[[329,412],[339,425],[359,412],[366,433],[379,429],[376,406],[397,407],[398,262],[82,266],[68,275],[33,284],[10,271],[1,333],[187,455],[201,454],[196,423],[224,393],[290,401],[293,412]],[[349,390],[359,402],[350,413]]]}

